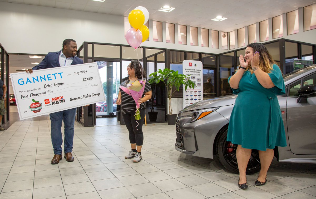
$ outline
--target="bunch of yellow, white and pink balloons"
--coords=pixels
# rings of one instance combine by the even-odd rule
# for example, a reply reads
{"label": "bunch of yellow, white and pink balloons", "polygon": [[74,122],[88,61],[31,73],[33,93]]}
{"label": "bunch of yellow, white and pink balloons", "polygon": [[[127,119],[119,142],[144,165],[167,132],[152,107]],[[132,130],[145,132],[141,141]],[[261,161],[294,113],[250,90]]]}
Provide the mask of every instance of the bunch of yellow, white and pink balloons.
{"label": "bunch of yellow, white and pink balloons", "polygon": [[128,21],[132,28],[126,32],[126,41],[137,49],[149,37],[149,29],[145,24],[149,19],[149,12],[143,6],[138,6],[128,14]]}

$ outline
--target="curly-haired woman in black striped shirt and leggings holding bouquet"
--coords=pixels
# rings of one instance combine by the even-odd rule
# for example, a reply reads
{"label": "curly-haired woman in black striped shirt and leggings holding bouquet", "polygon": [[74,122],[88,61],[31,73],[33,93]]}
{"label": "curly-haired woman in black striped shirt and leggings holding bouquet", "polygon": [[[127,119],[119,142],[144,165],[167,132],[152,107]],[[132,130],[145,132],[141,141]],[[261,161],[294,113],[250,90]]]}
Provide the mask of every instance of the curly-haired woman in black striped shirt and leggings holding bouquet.
{"label": "curly-haired woman in black striped shirt and leggings holding bouquet", "polygon": [[[128,77],[122,79],[124,81],[136,81],[138,79],[146,78],[146,73],[142,68],[142,64],[139,61],[132,60],[131,63],[127,66]],[[142,75],[143,73],[143,75]],[[151,87],[146,79],[144,93],[142,97],[138,99],[140,103],[139,111],[141,119],[135,119],[136,103],[130,95],[125,93],[122,89],[119,91],[119,97],[116,101],[116,104],[121,105],[121,112],[123,115],[123,120],[126,125],[126,128],[129,132],[129,138],[131,143],[131,151],[128,155],[125,156],[126,159],[133,159],[133,162],[140,162],[142,160],[141,149],[143,146],[143,121],[146,113],[146,104],[145,102],[151,98]],[[137,126],[138,125],[138,126]],[[138,130],[139,129],[139,130]]]}

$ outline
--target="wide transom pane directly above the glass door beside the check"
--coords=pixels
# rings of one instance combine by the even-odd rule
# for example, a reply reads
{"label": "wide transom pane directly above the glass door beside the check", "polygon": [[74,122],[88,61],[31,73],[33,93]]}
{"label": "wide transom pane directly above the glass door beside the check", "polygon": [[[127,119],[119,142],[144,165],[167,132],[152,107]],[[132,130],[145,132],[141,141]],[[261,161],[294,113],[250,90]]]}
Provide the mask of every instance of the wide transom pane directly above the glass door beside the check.
{"label": "wide transom pane directly above the glass door beside the check", "polygon": [[119,46],[94,44],[94,57],[119,58]]}

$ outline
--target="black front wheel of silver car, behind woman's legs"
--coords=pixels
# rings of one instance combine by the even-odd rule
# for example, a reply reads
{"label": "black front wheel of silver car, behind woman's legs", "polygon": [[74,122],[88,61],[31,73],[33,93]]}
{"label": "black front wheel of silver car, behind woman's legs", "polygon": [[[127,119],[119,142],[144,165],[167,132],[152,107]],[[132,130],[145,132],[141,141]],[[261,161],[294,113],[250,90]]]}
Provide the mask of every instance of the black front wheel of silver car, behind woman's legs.
{"label": "black front wheel of silver car, behind woman's legs", "polygon": [[[228,126],[219,132],[219,136],[216,142],[216,152],[219,161],[222,165],[233,173],[239,173],[236,149],[237,144],[228,142],[227,139]],[[253,174],[260,171],[260,159],[258,150],[252,149],[251,156],[246,168],[246,174]]]}

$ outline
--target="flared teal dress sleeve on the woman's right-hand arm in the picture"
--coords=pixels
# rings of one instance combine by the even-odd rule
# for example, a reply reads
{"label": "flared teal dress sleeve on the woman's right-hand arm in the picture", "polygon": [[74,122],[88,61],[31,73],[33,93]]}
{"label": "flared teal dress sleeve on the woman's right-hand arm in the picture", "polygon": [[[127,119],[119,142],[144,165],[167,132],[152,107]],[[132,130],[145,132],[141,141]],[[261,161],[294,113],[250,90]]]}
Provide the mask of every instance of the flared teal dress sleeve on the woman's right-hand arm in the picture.
{"label": "flared teal dress sleeve on the woman's right-hand arm in the picture", "polygon": [[273,70],[271,71],[271,73],[268,73],[268,75],[275,85],[274,87],[270,88],[270,90],[272,90],[277,95],[285,94],[285,85],[280,67],[276,64],[273,64]]}

